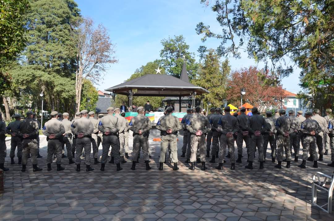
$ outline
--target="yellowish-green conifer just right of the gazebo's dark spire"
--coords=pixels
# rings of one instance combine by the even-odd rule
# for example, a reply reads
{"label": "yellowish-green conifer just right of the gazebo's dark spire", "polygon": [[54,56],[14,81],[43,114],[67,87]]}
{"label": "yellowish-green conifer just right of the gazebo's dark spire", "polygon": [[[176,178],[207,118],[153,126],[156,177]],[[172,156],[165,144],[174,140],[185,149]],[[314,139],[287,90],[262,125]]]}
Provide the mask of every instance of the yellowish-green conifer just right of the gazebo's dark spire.
{"label": "yellowish-green conifer just right of the gazebo's dark spire", "polygon": [[210,91],[203,95],[206,102],[216,107],[221,106],[226,97],[227,77],[231,70],[228,60],[221,63],[220,56],[213,49],[209,49],[203,59],[198,78],[193,83]]}

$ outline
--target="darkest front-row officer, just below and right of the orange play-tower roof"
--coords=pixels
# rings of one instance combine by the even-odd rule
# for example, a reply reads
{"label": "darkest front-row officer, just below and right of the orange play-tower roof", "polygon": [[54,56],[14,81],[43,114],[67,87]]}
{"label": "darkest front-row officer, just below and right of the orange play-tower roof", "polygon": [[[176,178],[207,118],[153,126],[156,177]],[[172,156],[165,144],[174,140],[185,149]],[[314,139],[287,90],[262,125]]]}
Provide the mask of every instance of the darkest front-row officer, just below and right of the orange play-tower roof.
{"label": "darkest front-row officer, just below and right of the orange play-tower roof", "polygon": [[263,117],[258,114],[258,108],[252,108],[252,116],[247,119],[246,129],[249,132],[249,158],[246,169],[253,169],[254,153],[258,147],[260,169],[263,169],[263,133],[268,130],[268,124]]}

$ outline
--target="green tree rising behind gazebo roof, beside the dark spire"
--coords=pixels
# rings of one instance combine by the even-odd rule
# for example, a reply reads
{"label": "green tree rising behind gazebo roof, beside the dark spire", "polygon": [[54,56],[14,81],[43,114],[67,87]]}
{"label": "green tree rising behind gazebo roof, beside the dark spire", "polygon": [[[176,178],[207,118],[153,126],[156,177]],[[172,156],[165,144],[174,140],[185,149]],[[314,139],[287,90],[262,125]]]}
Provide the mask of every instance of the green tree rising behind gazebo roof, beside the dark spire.
{"label": "green tree rising behind gazebo roof, beside the dark spire", "polygon": [[[182,35],[162,39],[163,48],[160,51],[163,67],[167,74],[180,78],[183,62],[186,62],[189,79],[196,78],[198,72],[198,63],[194,58],[194,53],[190,53],[189,45],[186,44]],[[184,57],[183,57],[184,56]]]}

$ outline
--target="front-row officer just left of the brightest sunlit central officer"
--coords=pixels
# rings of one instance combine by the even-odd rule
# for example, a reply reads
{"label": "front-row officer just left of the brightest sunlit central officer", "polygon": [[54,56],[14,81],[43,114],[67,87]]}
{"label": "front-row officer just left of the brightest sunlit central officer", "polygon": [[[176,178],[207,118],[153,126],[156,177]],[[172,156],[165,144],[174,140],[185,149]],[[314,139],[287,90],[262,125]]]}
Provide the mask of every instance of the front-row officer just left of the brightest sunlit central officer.
{"label": "front-row officer just left of the brightest sunlit central officer", "polygon": [[131,119],[129,123],[129,129],[133,131],[133,150],[132,150],[132,167],[131,170],[136,170],[136,161],[138,160],[138,152],[140,147],[143,149],[144,161],[146,164],[146,170],[150,170],[149,165],[149,153],[148,153],[148,132],[151,130],[152,125],[149,118],[143,115],[144,107],[139,106],[137,108],[138,115]]}

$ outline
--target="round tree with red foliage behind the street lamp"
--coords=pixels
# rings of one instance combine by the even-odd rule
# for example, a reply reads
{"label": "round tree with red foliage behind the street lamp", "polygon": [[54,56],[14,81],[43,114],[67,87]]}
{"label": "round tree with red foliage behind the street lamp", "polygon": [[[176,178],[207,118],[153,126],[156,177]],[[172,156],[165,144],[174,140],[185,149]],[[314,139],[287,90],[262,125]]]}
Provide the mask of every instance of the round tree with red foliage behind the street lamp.
{"label": "round tree with red foliage behind the street lamp", "polygon": [[[265,81],[266,78],[271,80]],[[252,66],[235,70],[227,82],[227,101],[240,106],[240,90],[244,88],[246,94],[242,96],[243,101],[258,107],[260,112],[278,107],[280,104],[275,102],[275,98],[281,96],[284,98],[284,90],[275,79],[272,73]]]}

